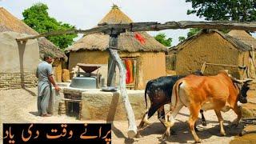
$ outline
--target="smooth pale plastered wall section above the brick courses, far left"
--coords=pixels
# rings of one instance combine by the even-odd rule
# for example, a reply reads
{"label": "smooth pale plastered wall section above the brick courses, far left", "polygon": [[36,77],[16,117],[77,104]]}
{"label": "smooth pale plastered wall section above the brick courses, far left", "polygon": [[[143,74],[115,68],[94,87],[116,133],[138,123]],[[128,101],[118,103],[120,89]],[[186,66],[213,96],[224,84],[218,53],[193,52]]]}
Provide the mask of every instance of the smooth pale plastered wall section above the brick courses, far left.
{"label": "smooth pale plastered wall section above the brick courses, far left", "polygon": [[39,62],[37,40],[17,42],[15,38],[27,34],[15,32],[0,33],[0,73],[34,72]]}

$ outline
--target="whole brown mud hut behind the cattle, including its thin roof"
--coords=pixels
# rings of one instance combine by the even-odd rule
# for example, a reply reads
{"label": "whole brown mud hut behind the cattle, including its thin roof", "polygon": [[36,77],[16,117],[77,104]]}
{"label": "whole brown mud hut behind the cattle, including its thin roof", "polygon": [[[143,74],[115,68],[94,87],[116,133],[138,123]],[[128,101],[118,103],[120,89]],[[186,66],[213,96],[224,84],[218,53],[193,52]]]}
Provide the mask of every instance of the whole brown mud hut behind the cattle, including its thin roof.
{"label": "whole brown mud hut behind the cattle, including its thin roof", "polygon": [[[230,31],[230,34],[234,34]],[[190,38],[168,50],[172,70],[177,74],[190,74],[194,70],[201,70],[203,62],[226,64],[233,66],[249,66],[255,75],[254,66],[251,65],[251,46],[241,39],[223,34],[218,30],[202,30]],[[242,70],[229,66],[207,66],[206,74],[217,74],[218,70],[227,69],[237,78],[243,78]]]}

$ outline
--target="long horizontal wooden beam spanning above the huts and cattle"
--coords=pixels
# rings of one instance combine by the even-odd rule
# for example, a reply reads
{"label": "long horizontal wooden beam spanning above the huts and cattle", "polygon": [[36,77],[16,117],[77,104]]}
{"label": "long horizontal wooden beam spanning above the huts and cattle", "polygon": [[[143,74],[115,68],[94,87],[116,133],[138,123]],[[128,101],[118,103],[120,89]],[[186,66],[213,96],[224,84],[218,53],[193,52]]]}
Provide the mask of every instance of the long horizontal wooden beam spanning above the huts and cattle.
{"label": "long horizontal wooden beam spanning above the huts and cattle", "polygon": [[120,34],[126,31],[158,31],[168,29],[228,29],[228,30],[250,30],[256,31],[256,22],[193,22],[193,21],[180,21],[180,22],[133,22],[127,24],[106,24],[103,23],[90,30],[64,30],[64,31],[51,31],[48,33],[38,34],[35,36],[17,38],[17,41],[26,41],[28,39],[41,38],[60,34]]}

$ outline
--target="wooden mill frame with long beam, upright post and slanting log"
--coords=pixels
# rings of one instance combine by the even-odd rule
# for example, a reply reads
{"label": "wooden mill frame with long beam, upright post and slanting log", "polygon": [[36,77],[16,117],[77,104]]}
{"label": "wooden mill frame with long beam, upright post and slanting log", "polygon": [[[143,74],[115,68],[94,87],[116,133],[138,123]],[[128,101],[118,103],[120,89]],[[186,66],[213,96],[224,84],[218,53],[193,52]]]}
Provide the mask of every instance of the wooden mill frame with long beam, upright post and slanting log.
{"label": "wooden mill frame with long beam, upright post and slanting log", "polygon": [[94,34],[104,33],[110,35],[109,47],[106,49],[110,54],[110,68],[108,75],[108,86],[114,79],[114,70],[118,66],[120,74],[120,92],[122,96],[122,102],[124,103],[127,119],[128,119],[128,137],[134,138],[137,134],[137,126],[134,118],[134,111],[130,105],[128,94],[126,91],[126,70],[122,65],[122,59],[118,55],[118,36],[125,32],[136,31],[158,31],[167,29],[188,29],[188,28],[200,28],[200,29],[228,29],[228,30],[250,30],[256,31],[256,22],[192,22],[192,21],[180,21],[180,22],[132,22],[126,24],[99,24],[90,30],[65,30],[65,31],[53,31],[26,38],[16,38],[18,42],[26,42],[28,39],[41,38],[59,34]]}

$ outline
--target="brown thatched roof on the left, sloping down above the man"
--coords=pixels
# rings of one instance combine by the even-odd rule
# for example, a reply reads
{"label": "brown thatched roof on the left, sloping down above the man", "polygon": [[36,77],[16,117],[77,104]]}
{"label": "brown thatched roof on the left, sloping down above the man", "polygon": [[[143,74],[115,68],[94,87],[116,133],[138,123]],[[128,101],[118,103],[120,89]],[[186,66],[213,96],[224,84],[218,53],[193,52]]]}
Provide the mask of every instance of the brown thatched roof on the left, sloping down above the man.
{"label": "brown thatched roof on the left, sloping down above the man", "polygon": [[[32,34],[36,35],[38,32],[27,26],[26,23],[22,22],[14,15],[10,14],[6,9],[0,7],[0,32],[4,31],[14,31],[22,34]],[[42,58],[43,54],[51,53],[54,58],[63,58],[67,60],[66,55],[62,50],[55,46],[52,42],[46,38],[39,38],[38,45],[40,49],[40,56]]]}

